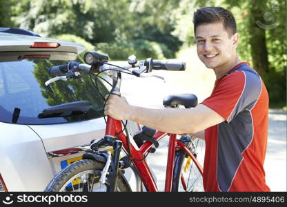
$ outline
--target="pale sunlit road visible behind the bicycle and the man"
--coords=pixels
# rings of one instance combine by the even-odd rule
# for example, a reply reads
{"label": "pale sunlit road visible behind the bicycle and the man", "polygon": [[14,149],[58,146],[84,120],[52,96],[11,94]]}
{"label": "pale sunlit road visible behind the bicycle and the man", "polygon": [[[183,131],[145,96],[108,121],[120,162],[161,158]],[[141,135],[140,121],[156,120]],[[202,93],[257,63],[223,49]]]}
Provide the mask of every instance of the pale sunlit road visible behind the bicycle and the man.
{"label": "pale sunlit road visible behind the bicycle and the man", "polygon": [[[121,93],[135,106],[163,108],[162,100],[166,95],[177,93],[195,93],[199,102],[208,97],[213,82],[199,83],[190,72],[155,72],[165,77],[166,82],[155,77],[137,78],[123,75]],[[157,175],[159,190],[164,190],[166,155],[168,140],[161,140],[155,154],[148,156],[148,164]],[[201,150],[201,163],[204,149]],[[266,183],[272,191],[286,191],[286,111],[270,110],[268,128],[268,148],[264,164]]]}

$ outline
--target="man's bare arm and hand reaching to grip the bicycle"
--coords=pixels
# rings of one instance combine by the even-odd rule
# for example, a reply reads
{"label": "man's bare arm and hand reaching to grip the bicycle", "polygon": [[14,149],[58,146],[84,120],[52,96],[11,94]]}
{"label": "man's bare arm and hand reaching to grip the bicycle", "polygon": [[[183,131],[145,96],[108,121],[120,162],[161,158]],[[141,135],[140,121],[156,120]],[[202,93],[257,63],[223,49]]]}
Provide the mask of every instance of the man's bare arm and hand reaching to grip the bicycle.
{"label": "man's bare arm and hand reaching to grip the bicycle", "polygon": [[[217,112],[203,104],[195,108],[143,108],[130,106],[124,97],[111,95],[105,115],[118,120],[135,121],[143,126],[173,134],[193,134],[224,121]],[[202,137],[203,136],[195,136]]]}

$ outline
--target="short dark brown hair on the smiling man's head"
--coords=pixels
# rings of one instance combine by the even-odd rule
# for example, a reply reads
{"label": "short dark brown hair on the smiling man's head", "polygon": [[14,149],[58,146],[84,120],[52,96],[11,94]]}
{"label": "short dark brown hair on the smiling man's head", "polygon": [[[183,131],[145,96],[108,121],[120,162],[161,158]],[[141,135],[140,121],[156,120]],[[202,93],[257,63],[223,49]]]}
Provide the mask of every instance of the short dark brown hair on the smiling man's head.
{"label": "short dark brown hair on the smiling man's head", "polygon": [[232,13],[222,7],[199,8],[193,15],[195,32],[201,24],[214,22],[222,22],[228,33],[235,34],[237,32],[236,21]]}

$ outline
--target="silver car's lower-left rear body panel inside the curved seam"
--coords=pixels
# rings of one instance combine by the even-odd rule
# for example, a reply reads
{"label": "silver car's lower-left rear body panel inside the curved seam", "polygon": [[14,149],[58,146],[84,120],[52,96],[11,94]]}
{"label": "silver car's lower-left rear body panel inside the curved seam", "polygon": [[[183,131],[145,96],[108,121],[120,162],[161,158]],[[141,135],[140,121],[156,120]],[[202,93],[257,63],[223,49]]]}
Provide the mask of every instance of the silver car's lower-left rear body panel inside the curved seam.
{"label": "silver car's lower-left rear body panel inside the curved seam", "polygon": [[28,126],[0,122],[0,172],[8,191],[41,191],[54,175],[40,137]]}

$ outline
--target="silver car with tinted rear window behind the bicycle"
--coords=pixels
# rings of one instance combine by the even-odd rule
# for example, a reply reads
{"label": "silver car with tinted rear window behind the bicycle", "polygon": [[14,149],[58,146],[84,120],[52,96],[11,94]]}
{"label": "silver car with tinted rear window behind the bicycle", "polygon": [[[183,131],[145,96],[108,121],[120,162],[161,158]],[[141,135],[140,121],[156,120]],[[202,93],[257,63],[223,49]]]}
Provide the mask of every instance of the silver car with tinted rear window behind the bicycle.
{"label": "silver car with tinted rear window behind the bicycle", "polygon": [[[0,192],[43,191],[56,172],[81,159],[92,139],[106,127],[103,99],[88,76],[57,81],[51,66],[81,61],[85,48],[46,39],[28,30],[0,28]],[[108,89],[99,83],[103,95]],[[44,110],[89,101],[88,112]],[[128,122],[133,133],[139,126]]]}

